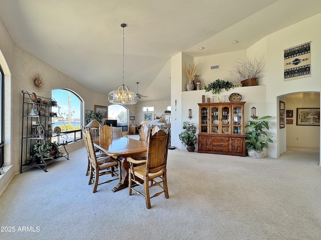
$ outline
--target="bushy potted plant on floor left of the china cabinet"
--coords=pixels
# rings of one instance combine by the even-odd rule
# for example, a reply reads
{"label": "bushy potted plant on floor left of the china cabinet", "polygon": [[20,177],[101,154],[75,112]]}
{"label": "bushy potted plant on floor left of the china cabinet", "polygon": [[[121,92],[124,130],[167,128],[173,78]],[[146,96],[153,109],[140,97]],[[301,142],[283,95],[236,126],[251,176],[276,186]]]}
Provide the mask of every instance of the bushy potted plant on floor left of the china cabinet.
{"label": "bushy potted plant on floor left of the china cabinet", "polygon": [[197,142],[196,138],[196,126],[194,123],[183,123],[183,132],[179,134],[179,139],[182,144],[186,146],[187,151],[194,152],[195,144]]}

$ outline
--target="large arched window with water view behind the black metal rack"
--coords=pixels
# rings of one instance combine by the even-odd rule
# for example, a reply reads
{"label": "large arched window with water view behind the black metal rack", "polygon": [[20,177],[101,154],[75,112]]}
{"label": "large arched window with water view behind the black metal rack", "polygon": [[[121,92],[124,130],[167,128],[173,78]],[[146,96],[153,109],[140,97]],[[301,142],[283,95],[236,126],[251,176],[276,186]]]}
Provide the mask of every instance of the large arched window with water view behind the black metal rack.
{"label": "large arched window with water view behind the black metal rack", "polygon": [[52,129],[59,126],[62,132],[67,133],[66,137],[54,137],[52,142],[60,144],[74,142],[81,139],[82,124],[82,101],[72,91],[66,89],[55,89],[51,92],[52,97],[59,107],[52,107],[53,112],[57,112],[57,117],[52,118]]}

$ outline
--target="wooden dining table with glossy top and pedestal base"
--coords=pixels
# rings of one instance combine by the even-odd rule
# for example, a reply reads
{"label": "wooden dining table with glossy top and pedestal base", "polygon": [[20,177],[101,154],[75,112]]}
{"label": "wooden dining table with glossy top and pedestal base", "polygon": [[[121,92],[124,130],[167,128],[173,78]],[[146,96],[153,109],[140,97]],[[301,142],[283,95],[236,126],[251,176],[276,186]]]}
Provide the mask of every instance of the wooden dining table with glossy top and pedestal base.
{"label": "wooden dining table with glossy top and pedestal base", "polygon": [[94,140],[94,146],[121,162],[121,181],[112,189],[113,192],[128,187],[129,163],[127,157],[141,160],[141,153],[147,151],[147,142],[123,137],[108,140]]}

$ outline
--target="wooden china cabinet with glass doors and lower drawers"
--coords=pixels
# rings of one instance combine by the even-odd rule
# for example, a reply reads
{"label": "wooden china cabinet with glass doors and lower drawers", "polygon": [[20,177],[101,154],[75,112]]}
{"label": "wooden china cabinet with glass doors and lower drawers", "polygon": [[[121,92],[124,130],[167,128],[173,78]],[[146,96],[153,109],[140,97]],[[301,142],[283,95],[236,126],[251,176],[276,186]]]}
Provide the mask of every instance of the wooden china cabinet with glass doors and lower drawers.
{"label": "wooden china cabinet with glass doors and lower drawers", "polygon": [[198,103],[199,153],[245,156],[244,104]]}

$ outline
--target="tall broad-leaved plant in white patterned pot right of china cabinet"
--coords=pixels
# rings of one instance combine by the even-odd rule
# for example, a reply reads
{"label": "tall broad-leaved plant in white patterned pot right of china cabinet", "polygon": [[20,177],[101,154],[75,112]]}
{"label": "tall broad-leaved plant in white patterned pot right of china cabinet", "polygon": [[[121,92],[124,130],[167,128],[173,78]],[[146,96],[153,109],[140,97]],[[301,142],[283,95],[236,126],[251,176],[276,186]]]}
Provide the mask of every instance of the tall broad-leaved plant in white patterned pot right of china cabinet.
{"label": "tall broad-leaved plant in white patterned pot right of china cabinet", "polygon": [[272,136],[269,136],[265,129],[269,129],[269,122],[266,118],[271,116],[255,116],[254,121],[248,121],[250,130],[245,133],[245,144],[248,155],[253,158],[263,158],[263,149],[268,148],[269,143],[273,143]]}

